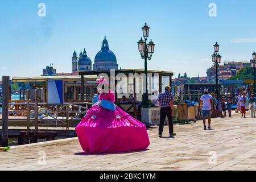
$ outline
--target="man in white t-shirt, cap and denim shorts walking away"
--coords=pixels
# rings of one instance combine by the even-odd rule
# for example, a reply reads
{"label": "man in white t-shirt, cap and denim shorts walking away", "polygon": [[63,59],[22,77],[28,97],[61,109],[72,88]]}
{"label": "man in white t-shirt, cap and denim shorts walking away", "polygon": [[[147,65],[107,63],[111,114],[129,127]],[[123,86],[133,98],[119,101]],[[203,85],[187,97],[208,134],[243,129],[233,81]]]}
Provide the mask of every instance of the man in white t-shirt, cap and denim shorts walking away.
{"label": "man in white t-shirt, cap and denim shorts walking away", "polygon": [[212,117],[212,110],[213,110],[213,97],[209,95],[209,90],[204,89],[204,96],[200,98],[200,104],[203,102],[203,123],[204,123],[204,130],[207,130],[206,126],[206,118],[208,118],[208,129],[211,130],[210,122]]}

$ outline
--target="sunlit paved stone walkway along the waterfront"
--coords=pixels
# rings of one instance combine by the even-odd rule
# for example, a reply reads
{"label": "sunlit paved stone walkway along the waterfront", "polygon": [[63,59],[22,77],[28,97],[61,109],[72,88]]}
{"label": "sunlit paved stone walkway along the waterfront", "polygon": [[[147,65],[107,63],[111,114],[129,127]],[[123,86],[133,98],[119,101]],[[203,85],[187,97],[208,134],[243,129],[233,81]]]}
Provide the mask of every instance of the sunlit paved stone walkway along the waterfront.
{"label": "sunlit paved stone walkway along the waterfront", "polygon": [[[256,170],[256,118],[216,118],[212,127],[204,131],[201,121],[175,125],[176,138],[158,138],[155,127],[148,130],[147,151],[123,154],[81,155],[77,138],[15,146],[0,152],[0,169]],[[168,137],[167,126],[164,136]]]}

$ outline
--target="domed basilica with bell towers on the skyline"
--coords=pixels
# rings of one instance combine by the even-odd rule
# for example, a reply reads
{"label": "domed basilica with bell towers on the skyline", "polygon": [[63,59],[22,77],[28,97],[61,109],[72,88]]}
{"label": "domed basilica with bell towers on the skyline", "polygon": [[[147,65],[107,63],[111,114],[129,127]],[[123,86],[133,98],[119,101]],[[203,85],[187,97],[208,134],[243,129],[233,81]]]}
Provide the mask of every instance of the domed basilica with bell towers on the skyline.
{"label": "domed basilica with bell towers on the skyline", "polygon": [[[110,51],[109,43],[105,36],[101,51],[94,58],[93,71],[108,71],[110,69],[118,69],[117,57]],[[92,71],[92,61],[87,56],[85,49],[84,52],[80,52],[79,57],[77,57],[76,51],[73,53],[72,72],[76,71]]]}

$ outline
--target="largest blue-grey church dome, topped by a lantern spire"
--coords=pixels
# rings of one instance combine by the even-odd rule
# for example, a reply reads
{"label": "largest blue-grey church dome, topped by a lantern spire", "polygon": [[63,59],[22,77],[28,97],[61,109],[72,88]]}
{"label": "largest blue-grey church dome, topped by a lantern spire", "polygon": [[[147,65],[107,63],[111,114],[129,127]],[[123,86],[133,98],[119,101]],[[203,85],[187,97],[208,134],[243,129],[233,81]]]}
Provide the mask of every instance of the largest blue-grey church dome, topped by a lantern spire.
{"label": "largest blue-grey church dome, topped by a lantern spire", "polygon": [[102,42],[101,51],[97,53],[94,59],[94,63],[98,63],[98,62],[117,63],[117,57],[115,57],[115,54],[109,50],[109,44],[108,44],[108,40],[106,40],[106,36]]}

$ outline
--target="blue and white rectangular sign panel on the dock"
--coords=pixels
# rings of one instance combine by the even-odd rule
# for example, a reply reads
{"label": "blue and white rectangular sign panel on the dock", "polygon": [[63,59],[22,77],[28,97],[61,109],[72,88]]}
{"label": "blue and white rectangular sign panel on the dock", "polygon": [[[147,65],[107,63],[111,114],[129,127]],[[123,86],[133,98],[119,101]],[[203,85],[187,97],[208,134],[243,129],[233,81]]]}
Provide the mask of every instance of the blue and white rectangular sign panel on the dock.
{"label": "blue and white rectangular sign panel on the dock", "polygon": [[47,104],[63,105],[63,80],[47,81]]}

